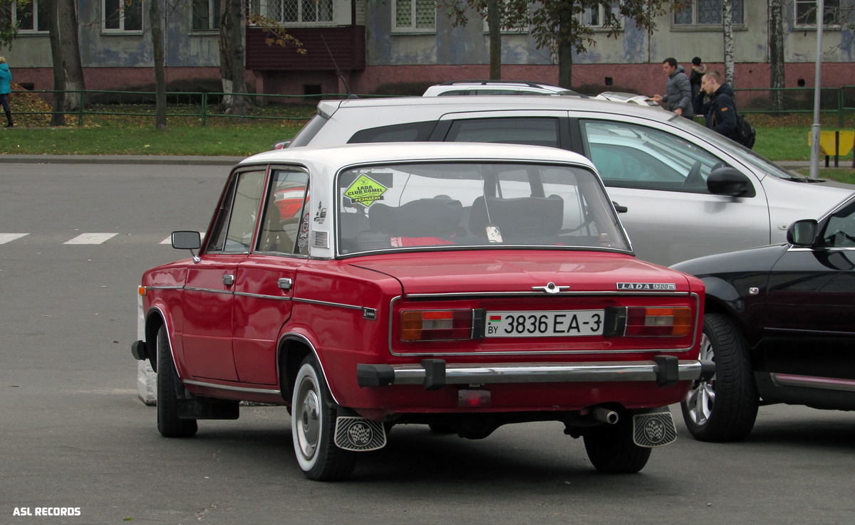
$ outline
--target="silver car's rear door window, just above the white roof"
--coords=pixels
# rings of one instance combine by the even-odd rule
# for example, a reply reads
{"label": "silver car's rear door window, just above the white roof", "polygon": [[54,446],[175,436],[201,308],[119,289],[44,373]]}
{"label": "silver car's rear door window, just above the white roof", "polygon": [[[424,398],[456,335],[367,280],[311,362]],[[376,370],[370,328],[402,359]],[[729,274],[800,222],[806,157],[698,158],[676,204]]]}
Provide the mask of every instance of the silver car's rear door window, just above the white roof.
{"label": "silver car's rear door window, just above the white roof", "polygon": [[558,120],[548,117],[455,120],[446,142],[558,147]]}

